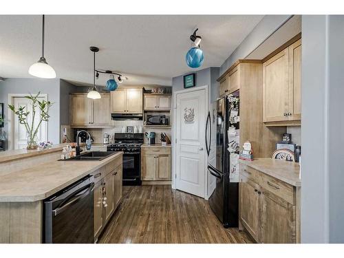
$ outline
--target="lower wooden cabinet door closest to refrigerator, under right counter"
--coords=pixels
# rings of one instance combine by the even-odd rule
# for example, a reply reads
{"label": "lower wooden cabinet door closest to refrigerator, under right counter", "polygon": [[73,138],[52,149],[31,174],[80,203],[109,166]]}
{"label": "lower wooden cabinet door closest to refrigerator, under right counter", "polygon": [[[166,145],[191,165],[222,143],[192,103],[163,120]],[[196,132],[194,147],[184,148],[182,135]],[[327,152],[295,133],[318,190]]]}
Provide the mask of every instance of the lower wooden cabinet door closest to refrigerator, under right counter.
{"label": "lower wooden cabinet door closest to refrigerator, under right counter", "polygon": [[248,230],[248,233],[259,242],[260,239],[260,212],[259,212],[259,185],[243,177],[239,186],[240,211],[239,219]]}

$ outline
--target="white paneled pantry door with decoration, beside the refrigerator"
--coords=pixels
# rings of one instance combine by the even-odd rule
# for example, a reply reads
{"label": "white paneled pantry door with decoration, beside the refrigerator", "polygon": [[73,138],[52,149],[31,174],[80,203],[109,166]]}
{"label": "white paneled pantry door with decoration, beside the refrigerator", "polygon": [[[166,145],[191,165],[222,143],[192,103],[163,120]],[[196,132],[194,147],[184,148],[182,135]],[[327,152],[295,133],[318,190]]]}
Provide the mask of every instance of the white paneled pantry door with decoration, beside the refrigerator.
{"label": "white paneled pantry door with decoration, beside the refrigerator", "polygon": [[206,90],[176,96],[176,178],[181,191],[205,197]]}

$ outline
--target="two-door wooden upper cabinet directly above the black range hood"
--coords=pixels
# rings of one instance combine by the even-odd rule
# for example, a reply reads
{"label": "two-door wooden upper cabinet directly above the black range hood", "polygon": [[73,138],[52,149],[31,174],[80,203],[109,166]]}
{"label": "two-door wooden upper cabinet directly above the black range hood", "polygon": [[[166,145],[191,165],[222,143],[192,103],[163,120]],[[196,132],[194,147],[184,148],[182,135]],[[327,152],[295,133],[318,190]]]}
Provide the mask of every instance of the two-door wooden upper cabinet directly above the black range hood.
{"label": "two-door wooden upper cabinet directly above the black range hood", "polygon": [[140,114],[142,109],[142,89],[116,89],[111,92],[111,113]]}

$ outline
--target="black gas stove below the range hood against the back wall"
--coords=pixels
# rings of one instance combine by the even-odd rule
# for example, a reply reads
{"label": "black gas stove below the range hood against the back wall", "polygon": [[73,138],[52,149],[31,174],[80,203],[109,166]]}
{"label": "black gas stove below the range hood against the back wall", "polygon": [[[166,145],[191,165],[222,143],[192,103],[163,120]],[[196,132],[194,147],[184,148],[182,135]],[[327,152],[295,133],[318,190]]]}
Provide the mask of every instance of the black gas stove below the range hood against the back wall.
{"label": "black gas stove below the range hood against the back wall", "polygon": [[123,185],[141,185],[143,133],[115,133],[107,151],[123,151]]}

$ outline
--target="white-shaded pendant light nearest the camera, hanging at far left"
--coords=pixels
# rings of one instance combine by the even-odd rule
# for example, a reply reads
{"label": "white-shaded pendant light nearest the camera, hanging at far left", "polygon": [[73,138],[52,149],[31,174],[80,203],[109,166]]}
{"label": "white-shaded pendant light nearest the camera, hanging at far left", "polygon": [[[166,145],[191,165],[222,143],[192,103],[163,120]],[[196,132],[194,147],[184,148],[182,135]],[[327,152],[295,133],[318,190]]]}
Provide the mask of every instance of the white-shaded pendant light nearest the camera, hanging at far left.
{"label": "white-shaded pendant light nearest the camera, hanging at far left", "polygon": [[44,57],[44,14],[42,21],[42,56],[37,63],[34,63],[29,68],[29,74],[39,78],[56,78],[54,68],[47,64]]}

